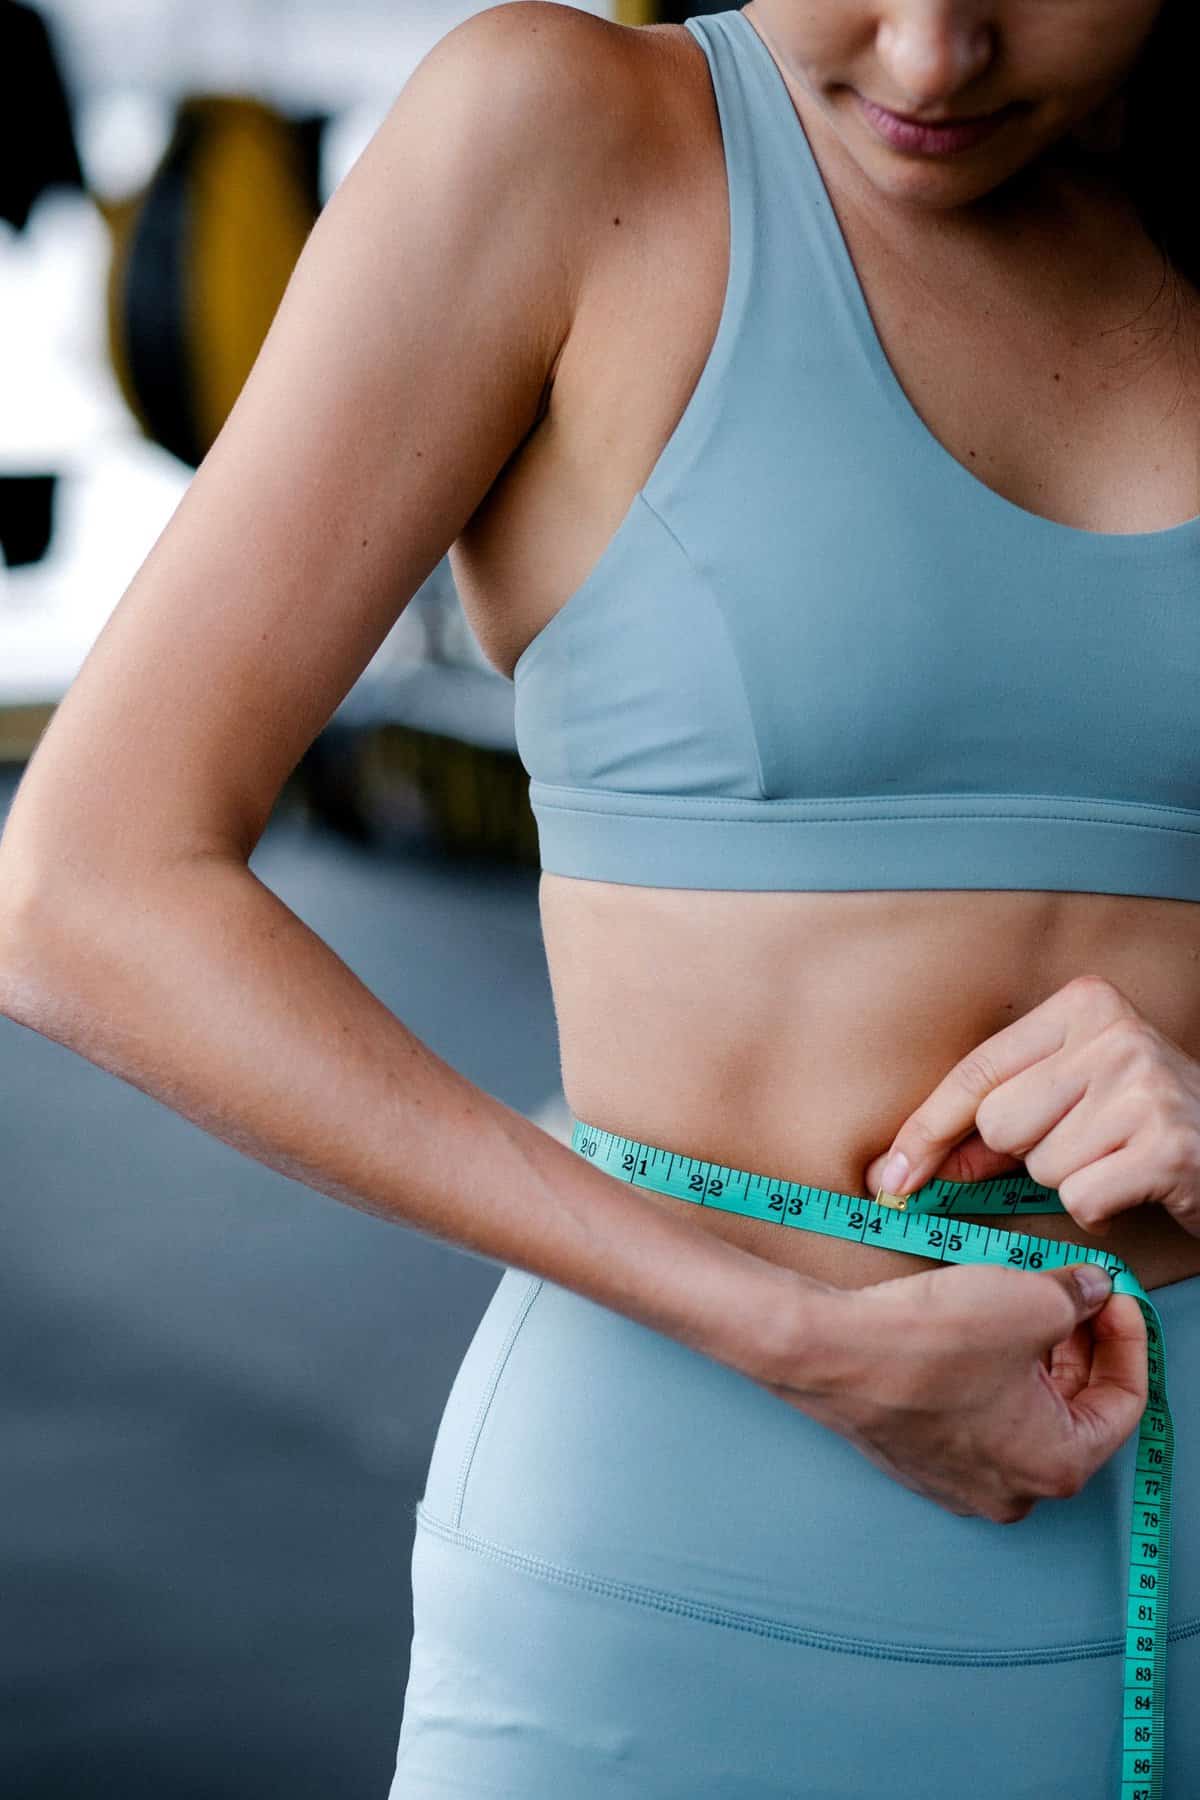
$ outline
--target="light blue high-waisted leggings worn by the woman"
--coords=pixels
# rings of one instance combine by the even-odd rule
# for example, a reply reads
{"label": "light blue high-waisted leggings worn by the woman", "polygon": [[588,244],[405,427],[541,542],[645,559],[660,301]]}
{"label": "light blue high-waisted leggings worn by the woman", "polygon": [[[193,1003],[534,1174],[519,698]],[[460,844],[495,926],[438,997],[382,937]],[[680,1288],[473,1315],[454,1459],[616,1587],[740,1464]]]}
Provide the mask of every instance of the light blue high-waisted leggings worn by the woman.
{"label": "light blue high-waisted leggings worn by the woman", "polygon": [[[1200,1276],[1175,1420],[1164,1800],[1200,1793]],[[831,1427],[506,1269],[412,1553],[389,1800],[1115,1800],[1137,1431],[959,1517]]]}

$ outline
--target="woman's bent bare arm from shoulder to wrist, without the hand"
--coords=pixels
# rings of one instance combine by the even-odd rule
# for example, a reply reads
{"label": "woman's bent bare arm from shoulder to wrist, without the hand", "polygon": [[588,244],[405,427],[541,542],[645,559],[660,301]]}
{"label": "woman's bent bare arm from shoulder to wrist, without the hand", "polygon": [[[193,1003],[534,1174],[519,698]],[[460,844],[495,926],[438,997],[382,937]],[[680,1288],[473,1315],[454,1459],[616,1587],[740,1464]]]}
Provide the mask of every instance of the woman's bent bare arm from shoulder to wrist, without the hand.
{"label": "woman's bent bare arm from shoulder to wrist, without the hand", "polygon": [[322,1193],[747,1372],[772,1366],[784,1291],[811,1289],[817,1370],[831,1292],[475,1087],[248,868],[286,776],[538,418],[637,126],[599,104],[604,32],[552,0],[471,16],[331,196],[18,787],[0,1010]]}

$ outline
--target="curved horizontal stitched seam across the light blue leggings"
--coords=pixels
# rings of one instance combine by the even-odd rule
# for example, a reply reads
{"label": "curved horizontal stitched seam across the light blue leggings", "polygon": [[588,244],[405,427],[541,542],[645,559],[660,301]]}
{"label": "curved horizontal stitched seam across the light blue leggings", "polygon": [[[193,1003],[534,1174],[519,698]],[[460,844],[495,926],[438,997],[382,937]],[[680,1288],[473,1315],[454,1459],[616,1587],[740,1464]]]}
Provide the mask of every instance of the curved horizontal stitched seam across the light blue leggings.
{"label": "curved horizontal stitched seam across the light blue leggings", "polygon": [[[1070,1663],[1087,1661],[1099,1656],[1117,1656],[1124,1654],[1124,1638],[1092,1638],[1078,1640],[1076,1643],[1054,1643],[1047,1649],[1018,1649],[1018,1651],[943,1651],[928,1643],[887,1643],[880,1638],[855,1638],[835,1631],[811,1631],[804,1625],[786,1625],[777,1618],[763,1618],[757,1613],[739,1613],[734,1607],[709,1606],[703,1600],[689,1600],[685,1595],[669,1593],[666,1588],[646,1588],[635,1582],[612,1580],[606,1575],[585,1575],[581,1570],[572,1570],[558,1562],[547,1562],[543,1557],[531,1557],[520,1550],[509,1550],[506,1544],[491,1543],[488,1537],[477,1537],[475,1532],[464,1532],[457,1526],[446,1525],[443,1519],[435,1519],[430,1512],[417,1503],[416,1510],[417,1530],[434,1532],[437,1537],[444,1537],[462,1550],[473,1550],[477,1555],[489,1557],[493,1562],[506,1562],[509,1568],[525,1570],[529,1575],[540,1575],[545,1580],[561,1582],[569,1588],[583,1588],[588,1593],[610,1595],[617,1600],[630,1600],[635,1606],[649,1606],[660,1613],[680,1613],[687,1618],[703,1620],[709,1625],[725,1625],[730,1631],[750,1631],[763,1638],[783,1638],[788,1643],[806,1643],[819,1651],[838,1651],[846,1656],[871,1656],[880,1661],[900,1661],[900,1663],[950,1663],[955,1669],[1004,1669],[1004,1667],[1033,1667],[1036,1663]],[[1193,1618],[1182,1625],[1168,1625],[1168,1643],[1175,1643],[1180,1638],[1193,1638],[1200,1634],[1200,1618]]]}

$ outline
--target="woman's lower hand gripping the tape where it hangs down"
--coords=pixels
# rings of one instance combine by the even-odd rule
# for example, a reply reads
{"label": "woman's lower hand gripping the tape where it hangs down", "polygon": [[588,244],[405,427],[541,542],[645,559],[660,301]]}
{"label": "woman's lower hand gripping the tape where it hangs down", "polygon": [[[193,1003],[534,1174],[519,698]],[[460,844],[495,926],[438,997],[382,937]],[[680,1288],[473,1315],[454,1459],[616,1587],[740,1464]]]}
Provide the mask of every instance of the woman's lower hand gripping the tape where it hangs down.
{"label": "woman's lower hand gripping the tape where it hangs down", "polygon": [[1146,1323],[1132,1294],[1088,1301],[1063,1269],[952,1264],[831,1289],[835,1354],[813,1381],[797,1330],[759,1381],[901,1487],[1013,1525],[1078,1494],[1137,1429]]}

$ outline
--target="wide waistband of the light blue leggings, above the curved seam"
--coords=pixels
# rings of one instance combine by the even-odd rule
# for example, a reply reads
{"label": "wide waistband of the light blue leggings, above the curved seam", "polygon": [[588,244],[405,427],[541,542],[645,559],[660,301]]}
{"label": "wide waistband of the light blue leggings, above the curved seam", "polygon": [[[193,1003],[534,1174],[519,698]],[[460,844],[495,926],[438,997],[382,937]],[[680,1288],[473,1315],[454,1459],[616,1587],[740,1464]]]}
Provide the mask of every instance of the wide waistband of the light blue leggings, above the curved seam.
{"label": "wide waistband of the light blue leggings, above the curved seam", "polygon": [[[1173,1391],[1195,1393],[1200,1280],[1155,1305]],[[1200,1431],[1178,1411],[1171,1638],[1200,1634]],[[932,1661],[1117,1656],[1135,1458],[1137,1435],[1016,1525],[963,1517],[736,1370],[509,1269],[417,1517],[545,1579],[757,1633]]]}

